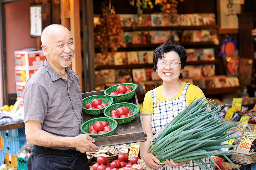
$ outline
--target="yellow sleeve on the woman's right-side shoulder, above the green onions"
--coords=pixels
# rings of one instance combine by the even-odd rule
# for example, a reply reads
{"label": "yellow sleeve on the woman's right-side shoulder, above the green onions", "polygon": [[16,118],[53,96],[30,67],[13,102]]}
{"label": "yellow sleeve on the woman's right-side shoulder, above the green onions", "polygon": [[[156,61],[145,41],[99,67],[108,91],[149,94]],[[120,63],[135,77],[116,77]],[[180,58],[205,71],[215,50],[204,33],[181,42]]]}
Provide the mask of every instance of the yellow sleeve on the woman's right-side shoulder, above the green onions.
{"label": "yellow sleeve on the woman's right-side shoulder, above the green onions", "polygon": [[186,92],[187,105],[189,105],[195,98],[200,99],[201,97],[205,98],[203,91],[199,87],[190,84]]}

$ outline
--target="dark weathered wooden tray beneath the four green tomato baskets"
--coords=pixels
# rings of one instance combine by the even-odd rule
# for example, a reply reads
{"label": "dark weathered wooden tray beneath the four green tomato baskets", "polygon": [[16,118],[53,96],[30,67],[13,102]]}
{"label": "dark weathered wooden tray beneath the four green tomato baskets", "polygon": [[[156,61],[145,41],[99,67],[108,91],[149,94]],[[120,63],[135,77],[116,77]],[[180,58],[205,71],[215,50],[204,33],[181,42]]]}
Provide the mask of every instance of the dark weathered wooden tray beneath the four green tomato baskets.
{"label": "dark weathered wooden tray beneath the four green tomato baskets", "polygon": [[[104,94],[105,90],[100,91],[92,91],[83,93],[83,98],[91,96],[91,95],[99,95]],[[127,101],[129,103],[133,103],[139,106],[136,92],[133,97]],[[113,102],[113,104],[116,102]],[[92,116],[90,114],[82,112],[82,123],[90,120],[92,118],[97,117],[105,117],[104,114],[99,116]],[[144,142],[146,141],[146,132],[142,123],[141,112],[136,115],[133,121],[126,125],[117,125],[113,135],[107,137],[93,138],[95,140],[94,144],[98,147],[102,146],[111,146],[111,145],[121,145],[126,143],[134,143],[134,142]]]}

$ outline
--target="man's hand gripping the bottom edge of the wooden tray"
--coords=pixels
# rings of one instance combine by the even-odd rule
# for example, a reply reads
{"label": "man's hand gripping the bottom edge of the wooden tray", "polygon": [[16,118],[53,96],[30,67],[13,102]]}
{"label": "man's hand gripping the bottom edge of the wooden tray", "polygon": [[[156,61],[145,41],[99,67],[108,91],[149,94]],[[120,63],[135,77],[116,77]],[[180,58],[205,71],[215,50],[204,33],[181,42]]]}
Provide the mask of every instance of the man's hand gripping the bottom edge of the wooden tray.
{"label": "man's hand gripping the bottom edge of the wooden tray", "polygon": [[95,140],[90,137],[87,134],[79,134],[78,136],[74,137],[75,142],[75,148],[82,152],[95,152],[96,150],[100,149],[100,147],[94,145],[93,142],[95,142]]}

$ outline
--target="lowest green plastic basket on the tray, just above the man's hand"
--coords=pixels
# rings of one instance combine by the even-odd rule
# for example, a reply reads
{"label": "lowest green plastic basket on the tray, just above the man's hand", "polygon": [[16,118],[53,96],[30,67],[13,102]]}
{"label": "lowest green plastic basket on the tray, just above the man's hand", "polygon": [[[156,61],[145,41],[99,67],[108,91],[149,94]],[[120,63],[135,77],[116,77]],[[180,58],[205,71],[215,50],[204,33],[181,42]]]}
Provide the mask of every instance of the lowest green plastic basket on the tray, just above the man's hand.
{"label": "lowest green plastic basket on the tray, just above the man's hand", "polygon": [[[90,134],[89,133],[89,128],[91,125],[94,124],[94,122],[96,121],[103,121],[105,120],[107,122],[107,125],[112,129],[106,133],[101,133],[101,134]],[[89,135],[92,138],[98,138],[98,137],[104,137],[104,136],[111,136],[113,135],[115,129],[117,128],[117,121],[115,121],[112,118],[108,118],[108,117],[98,117],[98,118],[94,118],[91,120],[88,120],[86,122],[84,122],[80,128],[82,133],[85,133],[87,135]]]}

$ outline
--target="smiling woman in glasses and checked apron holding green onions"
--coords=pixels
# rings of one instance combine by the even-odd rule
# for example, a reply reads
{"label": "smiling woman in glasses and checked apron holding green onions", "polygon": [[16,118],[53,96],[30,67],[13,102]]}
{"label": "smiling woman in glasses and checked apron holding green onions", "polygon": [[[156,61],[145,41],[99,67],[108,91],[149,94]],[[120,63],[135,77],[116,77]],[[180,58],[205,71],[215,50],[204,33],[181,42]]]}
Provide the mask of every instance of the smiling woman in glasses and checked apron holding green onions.
{"label": "smiling woman in glasses and checked apron holding green onions", "polygon": [[[147,141],[140,143],[140,156],[151,169],[159,169],[163,166],[163,164],[157,164],[160,161],[149,153],[151,137],[185,109],[194,98],[205,97],[200,88],[179,79],[186,60],[186,49],[182,45],[169,41],[156,48],[153,53],[154,67],[163,80],[163,85],[148,91],[145,95],[142,120]],[[209,158],[202,160],[211,168]],[[162,168],[167,170],[201,169],[193,160],[174,163],[173,160],[166,159],[165,164],[168,166],[164,165]]]}

